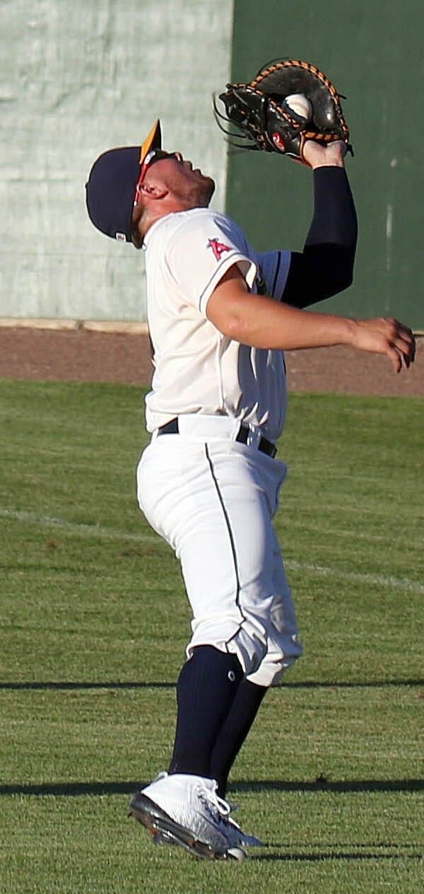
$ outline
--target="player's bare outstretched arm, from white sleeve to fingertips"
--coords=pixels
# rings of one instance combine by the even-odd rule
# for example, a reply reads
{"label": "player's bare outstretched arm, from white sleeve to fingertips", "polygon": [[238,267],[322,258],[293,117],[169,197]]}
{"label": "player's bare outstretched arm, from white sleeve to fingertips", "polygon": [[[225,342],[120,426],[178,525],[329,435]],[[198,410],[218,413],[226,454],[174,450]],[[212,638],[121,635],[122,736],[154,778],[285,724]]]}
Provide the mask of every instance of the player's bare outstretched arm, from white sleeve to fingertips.
{"label": "player's bare outstretched arm, from white sleeve to fingertips", "polygon": [[298,350],[347,344],[357,350],[386,354],[396,372],[409,367],[415,356],[412,331],[397,320],[317,314],[253,295],[237,266],[222,277],[206,313],[223,335],[254,348]]}

